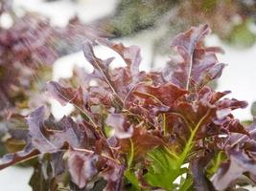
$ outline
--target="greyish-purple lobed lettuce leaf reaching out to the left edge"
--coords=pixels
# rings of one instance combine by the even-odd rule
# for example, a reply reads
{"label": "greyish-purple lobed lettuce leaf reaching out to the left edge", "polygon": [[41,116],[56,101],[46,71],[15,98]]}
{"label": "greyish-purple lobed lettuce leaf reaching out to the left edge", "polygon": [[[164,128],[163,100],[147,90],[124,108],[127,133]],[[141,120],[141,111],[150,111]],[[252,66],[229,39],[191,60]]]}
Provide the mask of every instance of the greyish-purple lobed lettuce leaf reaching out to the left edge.
{"label": "greyish-purple lobed lettuce leaf reaching out to the left edge", "polygon": [[[57,153],[66,143],[81,147],[81,137],[76,133],[78,125],[69,117],[61,120],[61,130],[48,129],[44,123],[45,109],[40,107],[28,118],[29,138],[23,151],[7,154],[1,159],[0,168],[31,159],[39,154]],[[50,127],[51,128],[51,127]]]}

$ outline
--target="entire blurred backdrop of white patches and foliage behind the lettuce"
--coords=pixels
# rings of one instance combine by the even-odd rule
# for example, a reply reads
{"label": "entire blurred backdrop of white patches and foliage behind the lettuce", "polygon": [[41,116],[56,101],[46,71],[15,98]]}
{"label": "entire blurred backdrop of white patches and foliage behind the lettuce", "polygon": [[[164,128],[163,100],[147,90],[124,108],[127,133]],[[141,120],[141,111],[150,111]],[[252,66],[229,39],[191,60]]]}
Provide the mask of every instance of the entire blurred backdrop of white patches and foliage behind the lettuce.
{"label": "entire blurred backdrop of white patches and foliage behind the lettuce", "polygon": [[[101,36],[137,45],[143,56],[141,70],[161,70],[175,34],[205,23],[212,29],[205,44],[220,46],[225,53],[219,60],[228,64],[214,86],[248,101],[248,107],[234,115],[251,120],[256,115],[255,0],[1,0],[0,113],[14,108],[28,114],[47,102],[55,117],[69,114],[71,105],[46,100],[44,84],[70,78],[74,67],[92,70],[81,52],[86,39]],[[115,56],[115,66],[124,64],[107,48],[97,47],[96,53]],[[3,118],[1,132],[17,125]],[[12,141],[1,152],[10,145]],[[32,190],[28,182],[33,173],[30,167],[7,168],[0,171],[0,185],[5,191]]]}

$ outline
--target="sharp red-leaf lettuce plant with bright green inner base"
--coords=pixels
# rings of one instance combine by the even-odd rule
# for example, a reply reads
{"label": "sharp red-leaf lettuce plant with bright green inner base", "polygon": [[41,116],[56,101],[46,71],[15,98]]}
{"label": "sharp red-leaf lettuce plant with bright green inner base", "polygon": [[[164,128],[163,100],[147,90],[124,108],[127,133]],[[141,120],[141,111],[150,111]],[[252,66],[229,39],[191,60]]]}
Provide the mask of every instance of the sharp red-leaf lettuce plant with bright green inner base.
{"label": "sharp red-leaf lettuce plant with bright green inner base", "polygon": [[[4,156],[0,168],[36,158],[34,190],[236,190],[241,180],[256,181],[255,123],[244,127],[231,114],[247,103],[207,85],[225,66],[221,49],[203,44],[209,32],[203,25],[178,34],[176,55],[149,73],[139,70],[136,46],[85,41],[93,72],[81,72],[78,87],[47,83],[48,94],[76,114],[57,121],[37,108],[26,117],[27,136],[16,136],[26,146]],[[119,53],[126,67],[97,57],[97,44]]]}

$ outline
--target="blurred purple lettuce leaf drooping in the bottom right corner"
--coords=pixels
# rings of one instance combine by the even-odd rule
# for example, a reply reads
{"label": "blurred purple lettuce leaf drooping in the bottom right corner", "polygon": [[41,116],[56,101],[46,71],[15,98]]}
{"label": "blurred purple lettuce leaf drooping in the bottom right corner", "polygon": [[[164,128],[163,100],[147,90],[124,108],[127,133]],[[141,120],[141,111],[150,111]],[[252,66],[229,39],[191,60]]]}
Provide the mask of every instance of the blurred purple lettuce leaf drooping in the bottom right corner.
{"label": "blurred purple lettuce leaf drooping in the bottom right corner", "polygon": [[225,147],[225,160],[218,172],[213,177],[213,183],[219,190],[225,189],[229,184],[237,180],[244,173],[253,180],[255,176],[255,121],[246,128],[247,135],[234,134]]}

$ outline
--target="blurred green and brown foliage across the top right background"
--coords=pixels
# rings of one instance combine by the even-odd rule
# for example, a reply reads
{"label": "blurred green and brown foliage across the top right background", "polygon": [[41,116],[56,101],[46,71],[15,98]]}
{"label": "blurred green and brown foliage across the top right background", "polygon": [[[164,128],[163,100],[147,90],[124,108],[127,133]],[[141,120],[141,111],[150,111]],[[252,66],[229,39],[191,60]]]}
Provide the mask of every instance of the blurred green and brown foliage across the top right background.
{"label": "blurred green and brown foliage across the top right background", "polygon": [[222,40],[238,47],[255,43],[255,30],[251,30],[255,22],[256,3],[250,0],[121,0],[113,15],[99,20],[101,27],[117,36],[164,26],[164,39],[187,26],[207,23]]}

